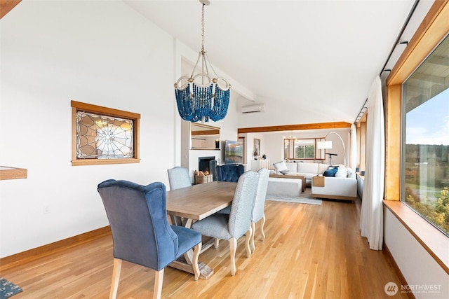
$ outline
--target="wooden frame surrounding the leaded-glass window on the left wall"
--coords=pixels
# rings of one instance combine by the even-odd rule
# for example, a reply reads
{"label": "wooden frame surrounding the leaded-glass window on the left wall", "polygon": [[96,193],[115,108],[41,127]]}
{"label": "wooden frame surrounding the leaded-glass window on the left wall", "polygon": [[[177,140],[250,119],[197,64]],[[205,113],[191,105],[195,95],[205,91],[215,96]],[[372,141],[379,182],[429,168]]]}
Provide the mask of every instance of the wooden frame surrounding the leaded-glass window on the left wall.
{"label": "wooden frame surrounding the leaded-glass window on the left wall", "polygon": [[[139,158],[139,130],[140,130],[140,114],[122,111],[103,106],[96,106],[76,101],[71,101],[72,106],[72,166],[81,165],[109,165],[109,164],[129,164],[140,162]],[[127,118],[134,122],[134,158],[117,158],[117,159],[80,159],[76,158],[76,112],[86,111],[96,113],[103,116],[111,116],[116,118]]]}

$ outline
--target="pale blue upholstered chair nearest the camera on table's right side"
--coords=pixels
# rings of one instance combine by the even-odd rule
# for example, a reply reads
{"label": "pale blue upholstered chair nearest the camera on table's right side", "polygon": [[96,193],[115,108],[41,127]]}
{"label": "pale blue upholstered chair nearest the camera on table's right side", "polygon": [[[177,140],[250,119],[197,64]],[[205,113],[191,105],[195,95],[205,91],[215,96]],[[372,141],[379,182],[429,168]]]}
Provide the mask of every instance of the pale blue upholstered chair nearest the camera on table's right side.
{"label": "pale blue upholstered chair nearest the camera on table's right side", "polygon": [[234,199],[232,200],[231,213],[215,213],[196,221],[192,228],[201,235],[215,239],[229,240],[229,255],[231,257],[231,275],[236,273],[236,249],[237,239],[246,234],[246,255],[251,256],[251,214],[255,202],[255,193],[259,174],[256,172],[245,172],[237,182]]}

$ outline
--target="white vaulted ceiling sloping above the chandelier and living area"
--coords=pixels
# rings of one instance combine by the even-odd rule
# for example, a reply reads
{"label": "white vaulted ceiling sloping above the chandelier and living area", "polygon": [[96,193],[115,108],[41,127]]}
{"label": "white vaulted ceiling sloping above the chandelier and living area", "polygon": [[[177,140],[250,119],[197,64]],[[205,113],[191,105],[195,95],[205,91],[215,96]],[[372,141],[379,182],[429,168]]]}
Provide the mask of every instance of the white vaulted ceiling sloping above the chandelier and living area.
{"label": "white vaulted ceiling sloping above the chandelier and living area", "polygon": [[[192,50],[201,49],[198,0],[125,2]],[[210,61],[225,73],[220,76],[253,93],[253,99],[236,97],[239,106],[264,103],[266,108],[263,117],[242,115],[239,127],[354,123],[375,76],[386,78],[389,73],[383,69],[391,69],[407,46],[401,43],[391,53],[396,40],[408,41],[433,4],[210,2],[205,7],[204,36]],[[408,26],[398,36],[415,4]]]}

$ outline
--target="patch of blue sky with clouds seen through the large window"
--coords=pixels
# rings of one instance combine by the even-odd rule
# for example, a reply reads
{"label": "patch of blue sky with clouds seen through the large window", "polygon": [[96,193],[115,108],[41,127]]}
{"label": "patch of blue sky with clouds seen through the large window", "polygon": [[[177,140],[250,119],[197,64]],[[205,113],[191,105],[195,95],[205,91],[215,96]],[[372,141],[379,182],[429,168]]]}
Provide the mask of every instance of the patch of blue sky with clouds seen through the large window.
{"label": "patch of blue sky with clouds seen through the large window", "polygon": [[407,113],[406,144],[449,145],[449,89]]}

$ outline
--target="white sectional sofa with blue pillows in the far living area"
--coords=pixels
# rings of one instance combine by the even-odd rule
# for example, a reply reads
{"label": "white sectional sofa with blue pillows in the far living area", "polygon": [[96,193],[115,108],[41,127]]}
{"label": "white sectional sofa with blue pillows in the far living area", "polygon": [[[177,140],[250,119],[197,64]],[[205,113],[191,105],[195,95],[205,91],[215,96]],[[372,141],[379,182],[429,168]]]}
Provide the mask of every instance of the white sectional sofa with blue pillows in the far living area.
{"label": "white sectional sofa with blue pillows in the far living area", "polygon": [[331,166],[325,163],[307,162],[277,162],[274,163],[276,172],[288,170],[288,173],[302,174],[306,178],[306,186],[311,187],[311,195],[319,198],[337,200],[357,199],[356,173],[343,165],[339,165],[335,176],[328,175],[326,170]]}

